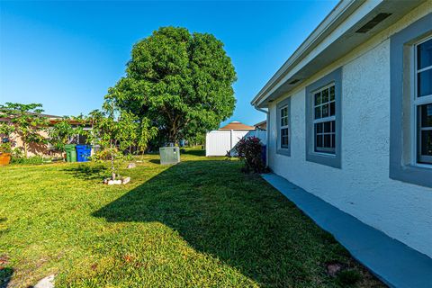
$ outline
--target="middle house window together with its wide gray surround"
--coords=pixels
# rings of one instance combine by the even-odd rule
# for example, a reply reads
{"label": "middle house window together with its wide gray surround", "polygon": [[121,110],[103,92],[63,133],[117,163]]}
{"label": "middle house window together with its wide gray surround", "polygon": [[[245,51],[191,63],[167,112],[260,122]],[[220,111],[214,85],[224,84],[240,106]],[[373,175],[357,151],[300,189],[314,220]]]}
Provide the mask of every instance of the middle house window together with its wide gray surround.
{"label": "middle house window together with its wide gray surround", "polygon": [[306,87],[306,160],[341,167],[342,68]]}

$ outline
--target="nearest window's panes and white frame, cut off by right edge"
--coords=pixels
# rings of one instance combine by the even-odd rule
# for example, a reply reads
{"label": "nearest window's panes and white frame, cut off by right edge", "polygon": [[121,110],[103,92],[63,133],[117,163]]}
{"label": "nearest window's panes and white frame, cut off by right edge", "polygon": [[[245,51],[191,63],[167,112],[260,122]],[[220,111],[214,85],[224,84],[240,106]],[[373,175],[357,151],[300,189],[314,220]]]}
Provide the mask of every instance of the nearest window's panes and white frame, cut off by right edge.
{"label": "nearest window's panes and white frame, cut off by right edge", "polygon": [[432,164],[432,38],[415,47],[415,99],[419,163]]}

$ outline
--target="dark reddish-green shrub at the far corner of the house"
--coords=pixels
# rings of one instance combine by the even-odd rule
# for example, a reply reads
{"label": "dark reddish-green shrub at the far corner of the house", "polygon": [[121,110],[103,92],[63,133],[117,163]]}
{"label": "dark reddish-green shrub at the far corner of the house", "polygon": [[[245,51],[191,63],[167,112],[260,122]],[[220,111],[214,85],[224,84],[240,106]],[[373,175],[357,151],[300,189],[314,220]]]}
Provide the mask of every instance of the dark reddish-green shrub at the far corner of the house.
{"label": "dark reddish-green shrub at the far corner of the house", "polygon": [[263,161],[263,144],[255,136],[240,139],[235,147],[238,157],[244,161],[245,172],[263,173],[266,164]]}

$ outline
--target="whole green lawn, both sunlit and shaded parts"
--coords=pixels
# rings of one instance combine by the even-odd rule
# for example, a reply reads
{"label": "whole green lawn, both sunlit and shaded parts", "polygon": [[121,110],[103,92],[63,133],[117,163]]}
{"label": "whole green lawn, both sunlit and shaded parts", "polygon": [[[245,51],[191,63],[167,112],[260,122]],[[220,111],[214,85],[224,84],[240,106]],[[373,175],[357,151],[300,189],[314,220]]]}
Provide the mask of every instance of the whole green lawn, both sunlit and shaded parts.
{"label": "whole green lawn, both sunlit and shaded parts", "polygon": [[[98,164],[1,167],[0,286],[383,286],[238,161],[182,160],[148,155],[124,186],[101,184]],[[358,279],[327,275],[335,261]]]}

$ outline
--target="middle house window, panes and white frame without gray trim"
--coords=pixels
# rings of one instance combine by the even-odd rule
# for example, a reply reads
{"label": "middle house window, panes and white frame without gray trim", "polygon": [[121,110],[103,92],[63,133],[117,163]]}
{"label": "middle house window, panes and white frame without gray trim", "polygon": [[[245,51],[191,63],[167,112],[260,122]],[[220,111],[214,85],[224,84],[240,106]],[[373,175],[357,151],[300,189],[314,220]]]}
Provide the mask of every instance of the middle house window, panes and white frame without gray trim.
{"label": "middle house window, panes and white frame without gray trim", "polygon": [[315,152],[336,152],[335,85],[327,85],[313,93],[313,126]]}

